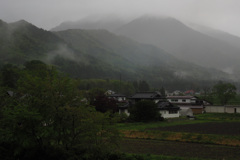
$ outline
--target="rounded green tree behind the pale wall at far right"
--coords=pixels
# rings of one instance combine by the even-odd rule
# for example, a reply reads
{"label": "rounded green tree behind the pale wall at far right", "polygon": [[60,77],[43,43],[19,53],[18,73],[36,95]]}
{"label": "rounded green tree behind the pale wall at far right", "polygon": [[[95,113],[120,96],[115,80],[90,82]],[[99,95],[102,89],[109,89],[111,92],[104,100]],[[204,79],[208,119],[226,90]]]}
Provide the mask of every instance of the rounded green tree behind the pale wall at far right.
{"label": "rounded green tree behind the pale wall at far right", "polygon": [[219,82],[213,86],[213,94],[220,101],[221,105],[225,105],[236,96],[236,86],[231,83]]}

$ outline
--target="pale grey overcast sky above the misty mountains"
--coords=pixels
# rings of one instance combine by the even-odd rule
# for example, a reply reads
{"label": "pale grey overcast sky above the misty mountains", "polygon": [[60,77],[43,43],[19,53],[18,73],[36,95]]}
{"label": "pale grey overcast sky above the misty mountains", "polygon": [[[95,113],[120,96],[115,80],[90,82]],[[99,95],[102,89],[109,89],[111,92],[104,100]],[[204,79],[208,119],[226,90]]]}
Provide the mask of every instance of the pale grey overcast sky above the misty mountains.
{"label": "pale grey overcast sky above the misty mountains", "polygon": [[240,36],[240,0],[0,0],[0,19],[51,29],[88,15],[168,15]]}

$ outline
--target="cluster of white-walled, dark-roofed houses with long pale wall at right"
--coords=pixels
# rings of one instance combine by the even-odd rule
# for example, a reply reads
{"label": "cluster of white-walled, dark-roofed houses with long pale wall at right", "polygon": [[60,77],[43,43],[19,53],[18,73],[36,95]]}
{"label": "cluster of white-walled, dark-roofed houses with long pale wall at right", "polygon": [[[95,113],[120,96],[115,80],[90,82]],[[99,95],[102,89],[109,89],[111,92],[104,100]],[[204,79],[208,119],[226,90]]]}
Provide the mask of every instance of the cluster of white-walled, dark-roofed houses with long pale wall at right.
{"label": "cluster of white-walled, dark-roofed houses with long pale wall at right", "polygon": [[213,106],[211,103],[193,95],[162,96],[159,92],[138,92],[130,97],[112,92],[107,95],[118,103],[119,113],[130,115],[128,109],[141,100],[151,100],[157,105],[163,118],[193,116],[202,113],[240,113],[240,106]]}

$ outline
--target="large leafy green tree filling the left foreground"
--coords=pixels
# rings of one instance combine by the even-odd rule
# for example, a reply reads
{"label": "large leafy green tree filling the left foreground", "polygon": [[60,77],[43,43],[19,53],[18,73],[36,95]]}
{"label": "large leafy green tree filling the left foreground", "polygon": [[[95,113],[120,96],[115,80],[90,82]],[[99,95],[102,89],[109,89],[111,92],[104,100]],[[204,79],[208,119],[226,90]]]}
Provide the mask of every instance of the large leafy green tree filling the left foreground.
{"label": "large leafy green tree filling the left foreground", "polygon": [[1,106],[0,155],[8,150],[12,159],[97,159],[114,148],[118,134],[109,116],[82,102],[72,79],[47,66],[26,68],[17,88],[16,103]]}

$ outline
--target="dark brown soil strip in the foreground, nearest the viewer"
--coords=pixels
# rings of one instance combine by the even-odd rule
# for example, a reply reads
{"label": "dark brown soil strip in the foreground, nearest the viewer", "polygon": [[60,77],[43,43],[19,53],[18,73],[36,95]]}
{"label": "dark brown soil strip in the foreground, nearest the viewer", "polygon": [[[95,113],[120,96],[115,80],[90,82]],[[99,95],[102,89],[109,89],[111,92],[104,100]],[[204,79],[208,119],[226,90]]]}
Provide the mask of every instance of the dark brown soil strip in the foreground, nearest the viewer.
{"label": "dark brown soil strip in the foreground, nearest the viewer", "polygon": [[144,139],[124,139],[121,143],[121,151],[137,154],[195,157],[214,160],[240,159],[240,147]]}

